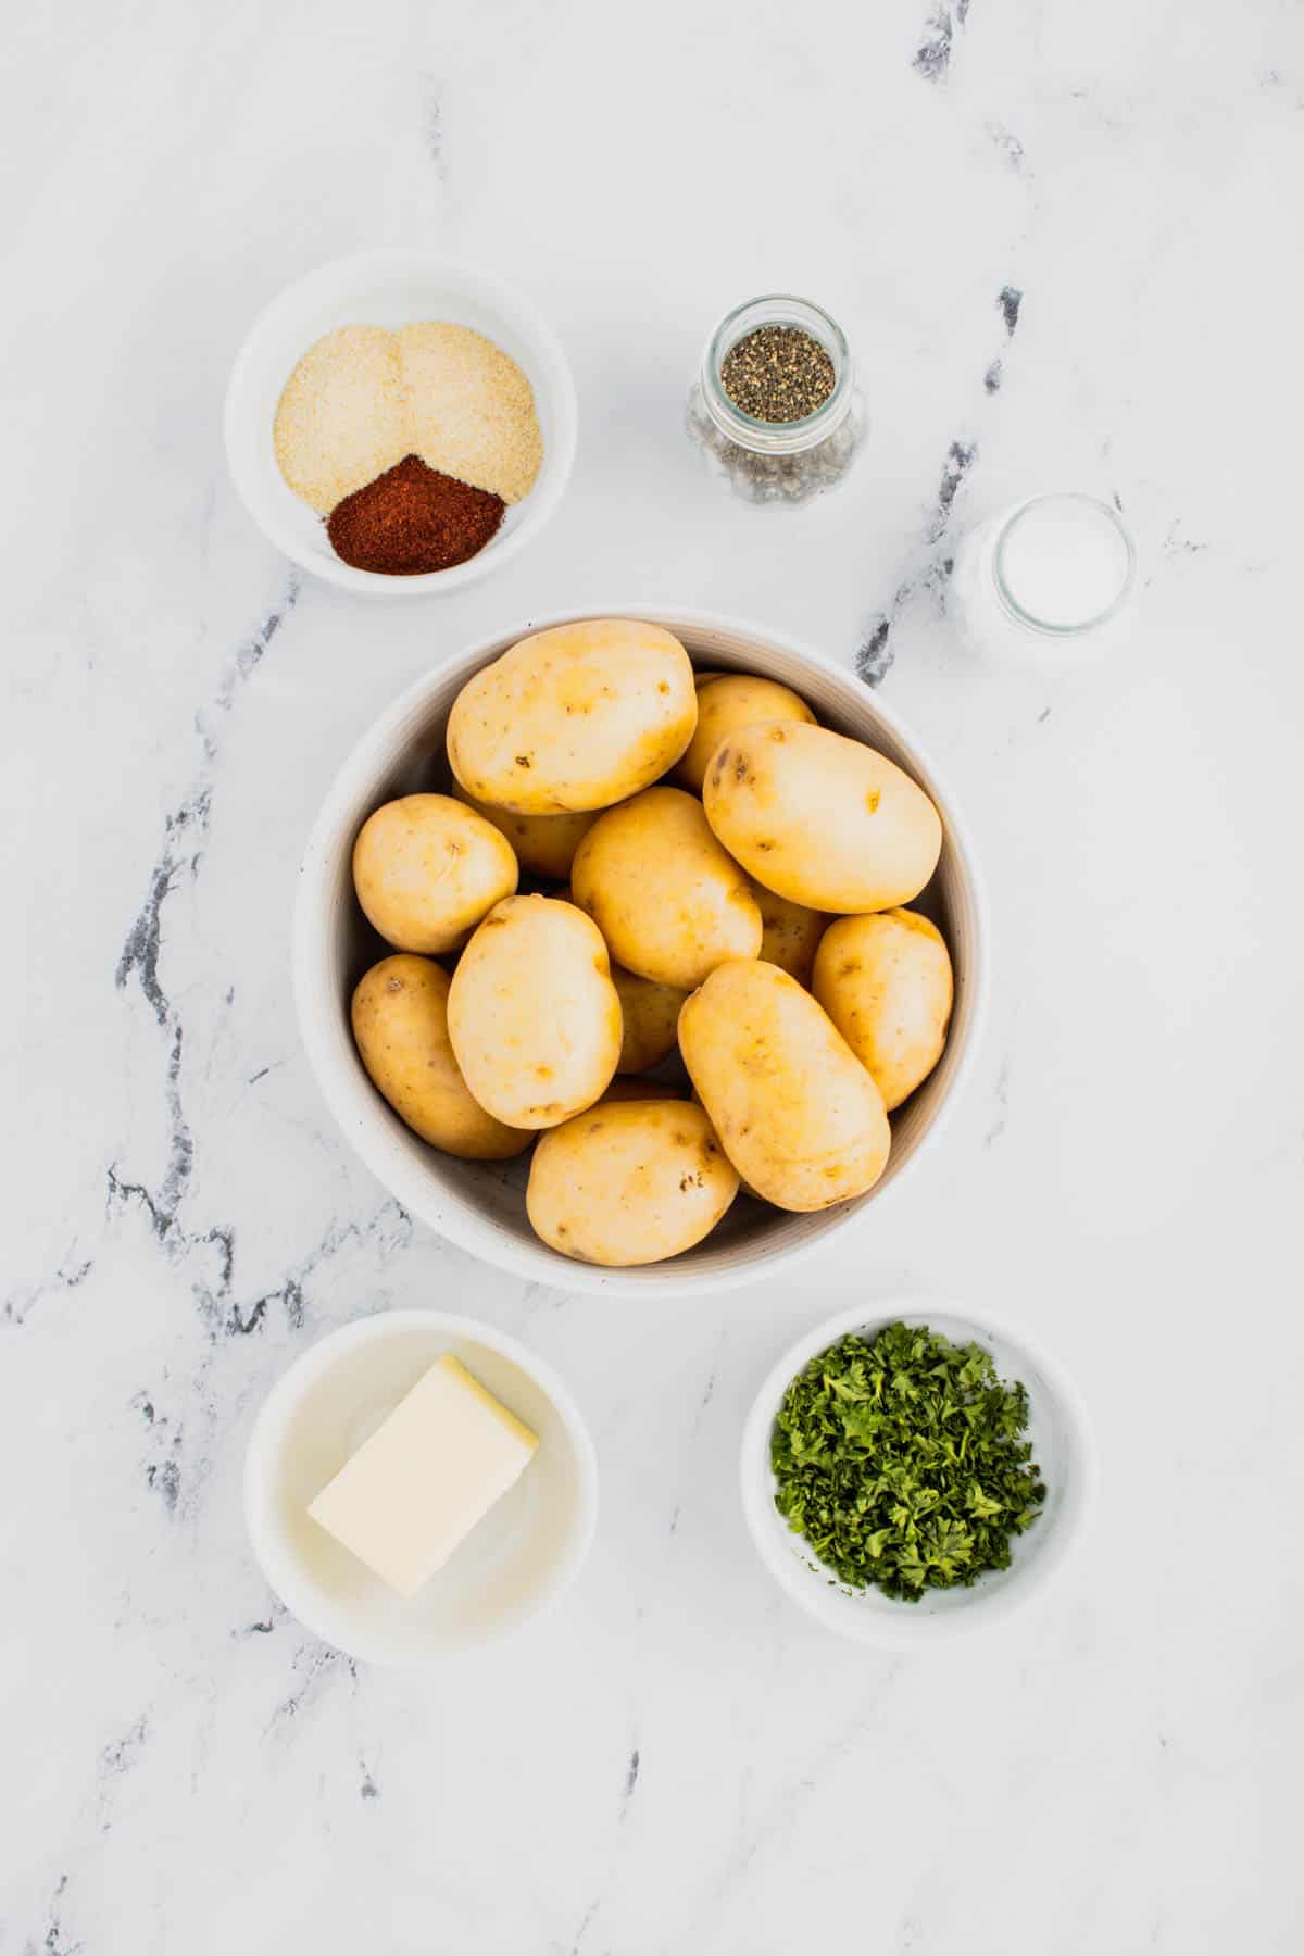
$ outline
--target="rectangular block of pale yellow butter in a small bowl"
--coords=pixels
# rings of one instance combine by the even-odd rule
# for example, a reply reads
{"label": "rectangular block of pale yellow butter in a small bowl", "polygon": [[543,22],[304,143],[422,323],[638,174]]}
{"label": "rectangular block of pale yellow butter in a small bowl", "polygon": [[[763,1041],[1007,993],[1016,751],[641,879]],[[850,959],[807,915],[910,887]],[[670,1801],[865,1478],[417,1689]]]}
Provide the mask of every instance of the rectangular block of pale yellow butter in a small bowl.
{"label": "rectangular block of pale yellow butter in a small bowl", "polygon": [[381,1582],[414,1596],[506,1494],[538,1444],[444,1354],[307,1512]]}

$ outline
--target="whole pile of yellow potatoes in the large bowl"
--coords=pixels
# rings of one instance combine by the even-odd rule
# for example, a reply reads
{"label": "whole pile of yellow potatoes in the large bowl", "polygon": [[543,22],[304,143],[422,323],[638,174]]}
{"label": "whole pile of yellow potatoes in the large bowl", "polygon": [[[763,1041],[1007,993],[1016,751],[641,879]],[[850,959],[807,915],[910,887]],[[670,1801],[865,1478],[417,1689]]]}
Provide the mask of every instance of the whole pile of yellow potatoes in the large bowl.
{"label": "whole pile of yellow potatoes in the large bowl", "polygon": [[[940,931],[901,908],[942,847],[909,775],[624,618],[467,681],[448,761],[452,794],[387,802],[354,845],[397,951],[354,1037],[416,1134],[469,1160],[538,1140],[530,1222],[592,1264],[692,1248],[739,1187],[809,1211],[878,1181],[952,1003]],[[676,1046],[692,1101],[645,1078]]]}

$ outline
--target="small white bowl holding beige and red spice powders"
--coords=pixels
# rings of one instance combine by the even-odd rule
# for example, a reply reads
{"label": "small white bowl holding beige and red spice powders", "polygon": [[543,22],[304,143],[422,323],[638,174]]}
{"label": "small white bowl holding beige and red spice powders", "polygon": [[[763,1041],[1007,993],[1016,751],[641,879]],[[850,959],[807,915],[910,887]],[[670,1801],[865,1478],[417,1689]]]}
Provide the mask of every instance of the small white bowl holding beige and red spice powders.
{"label": "small white bowl holding beige and red spice powders", "polygon": [[[285,381],[323,333],[336,327],[403,327],[420,319],[475,327],[524,370],[543,434],[543,466],[534,489],[510,505],[497,536],[475,557],[424,577],[385,577],[336,557],[323,518],[282,475],[272,428]],[[459,591],[540,534],[571,479],[577,419],[567,356],[528,299],[459,258],[430,250],[369,250],[309,272],[258,315],[227,385],[227,464],[258,528],[305,571],[366,597],[411,599]]]}

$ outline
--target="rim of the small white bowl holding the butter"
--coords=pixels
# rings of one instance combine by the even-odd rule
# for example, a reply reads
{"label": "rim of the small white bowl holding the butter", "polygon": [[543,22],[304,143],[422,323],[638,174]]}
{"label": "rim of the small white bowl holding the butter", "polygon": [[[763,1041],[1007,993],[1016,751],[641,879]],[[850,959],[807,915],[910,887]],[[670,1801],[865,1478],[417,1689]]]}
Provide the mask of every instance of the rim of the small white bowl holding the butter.
{"label": "rim of the small white bowl holding the butter", "polygon": [[[483,1344],[491,1352],[497,1352],[500,1357],[524,1371],[526,1377],[530,1377],[543,1391],[549,1404],[561,1418],[567,1440],[575,1449],[579,1496],[577,1522],[567,1539],[567,1549],[553,1565],[547,1580],[542,1584],[526,1610],[506,1622],[500,1629],[491,1631],[487,1637],[477,1637],[463,1645],[440,1645],[430,1653],[395,1657],[393,1651],[371,1643],[368,1637],[350,1639],[348,1643],[340,1641],[328,1616],[319,1614],[317,1586],[301,1575],[295,1557],[287,1555],[276,1539],[268,1518],[268,1494],[285,1426],[295,1408],[303,1402],[307,1391],[350,1352],[405,1330],[430,1330],[446,1332],[454,1338],[469,1338],[475,1344]],[[348,1324],[340,1324],[336,1330],[325,1332],[307,1348],[307,1352],[301,1352],[295,1359],[291,1359],[280,1379],[272,1385],[272,1391],[258,1408],[248,1436],[248,1445],[244,1449],[242,1504],[244,1532],[248,1535],[254,1561],[258,1563],[258,1569],[262,1571],[272,1592],[289,1610],[289,1614],[303,1623],[305,1629],[309,1629],[315,1637],[321,1637],[323,1643],[328,1643],[332,1649],[344,1651],[348,1657],[356,1657],[366,1665],[379,1665],[387,1670],[428,1670],[438,1665],[456,1663],[467,1651],[483,1651],[493,1643],[504,1643],[508,1637],[514,1637],[520,1629],[524,1629],[526,1623],[536,1623],[540,1616],[551,1610],[571,1588],[577,1575],[585,1567],[598,1528],[598,1455],[585,1414],[581,1412],[571,1389],[553,1371],[547,1359],[542,1359],[538,1352],[532,1352],[518,1338],[512,1338],[510,1332],[502,1332],[497,1324],[487,1324],[483,1318],[463,1316],[457,1311],[426,1311],[420,1307],[375,1311],[366,1318],[352,1318]]]}

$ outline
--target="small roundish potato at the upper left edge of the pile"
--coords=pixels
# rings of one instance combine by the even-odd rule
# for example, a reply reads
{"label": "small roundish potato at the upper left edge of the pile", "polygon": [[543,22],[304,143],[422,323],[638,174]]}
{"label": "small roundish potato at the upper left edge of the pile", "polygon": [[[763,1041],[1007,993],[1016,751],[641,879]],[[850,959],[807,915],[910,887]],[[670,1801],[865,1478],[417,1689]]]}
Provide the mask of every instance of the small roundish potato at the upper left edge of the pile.
{"label": "small roundish potato at the upper left edge of the pile", "polygon": [[456,951],[516,888],[499,829],[450,794],[405,794],[358,829],[354,888],[368,921],[397,951]]}

